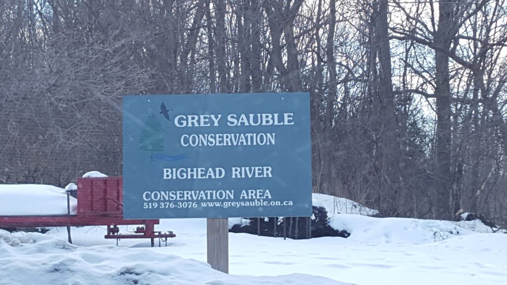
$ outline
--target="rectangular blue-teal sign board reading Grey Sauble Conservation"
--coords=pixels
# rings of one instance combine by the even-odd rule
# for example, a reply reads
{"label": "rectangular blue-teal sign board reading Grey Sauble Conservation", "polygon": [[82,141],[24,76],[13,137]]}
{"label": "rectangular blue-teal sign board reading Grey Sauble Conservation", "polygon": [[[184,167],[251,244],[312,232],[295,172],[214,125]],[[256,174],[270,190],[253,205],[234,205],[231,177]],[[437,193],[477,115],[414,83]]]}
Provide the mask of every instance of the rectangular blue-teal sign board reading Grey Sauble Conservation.
{"label": "rectangular blue-teal sign board reading Grey Sauble Conservation", "polygon": [[123,97],[126,219],[310,216],[308,93]]}

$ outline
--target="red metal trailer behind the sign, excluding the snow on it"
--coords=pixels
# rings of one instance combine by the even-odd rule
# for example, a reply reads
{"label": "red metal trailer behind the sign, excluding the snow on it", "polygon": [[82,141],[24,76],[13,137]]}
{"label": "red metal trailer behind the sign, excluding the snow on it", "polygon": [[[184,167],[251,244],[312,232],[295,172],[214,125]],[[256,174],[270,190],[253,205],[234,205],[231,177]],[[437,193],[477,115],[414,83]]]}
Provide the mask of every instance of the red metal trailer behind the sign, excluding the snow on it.
{"label": "red metal trailer behind the sign, excluding the snow on it", "polygon": [[[171,231],[155,231],[160,220],[123,219],[122,177],[78,178],[77,213],[61,216],[0,216],[0,228],[106,226],[104,238],[150,238],[167,241]],[[67,199],[68,200],[68,199]],[[70,207],[67,205],[67,207]],[[141,225],[134,233],[120,233],[119,225]],[[70,235],[69,235],[70,240]]]}

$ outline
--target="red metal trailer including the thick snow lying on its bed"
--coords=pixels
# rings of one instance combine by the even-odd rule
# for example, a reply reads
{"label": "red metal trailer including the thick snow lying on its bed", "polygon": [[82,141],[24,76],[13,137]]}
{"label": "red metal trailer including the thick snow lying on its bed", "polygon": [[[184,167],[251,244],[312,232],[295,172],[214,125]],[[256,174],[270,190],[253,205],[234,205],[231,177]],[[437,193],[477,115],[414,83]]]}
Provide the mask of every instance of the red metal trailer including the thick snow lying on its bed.
{"label": "red metal trailer including the thick snow lying on its bed", "polygon": [[[104,238],[150,238],[167,241],[176,235],[155,231],[160,220],[123,219],[122,177],[84,177],[77,180],[77,199],[47,185],[2,185],[0,228],[106,226]],[[142,225],[120,233],[119,225]]]}

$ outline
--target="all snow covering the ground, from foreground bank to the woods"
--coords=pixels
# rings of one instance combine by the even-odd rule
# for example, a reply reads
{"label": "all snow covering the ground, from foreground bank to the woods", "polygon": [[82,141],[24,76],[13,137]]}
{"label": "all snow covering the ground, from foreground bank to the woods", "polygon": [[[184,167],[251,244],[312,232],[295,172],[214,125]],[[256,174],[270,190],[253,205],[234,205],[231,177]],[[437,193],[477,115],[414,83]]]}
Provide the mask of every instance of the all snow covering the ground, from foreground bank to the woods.
{"label": "all snow covering the ground, from foreground bank to the woods", "polygon": [[[66,202],[66,201],[65,201]],[[480,221],[449,222],[363,215],[374,210],[314,194],[330,224],[349,238],[292,240],[230,233],[230,274],[209,268],[206,220],[161,220],[177,237],[103,238],[105,228],[47,234],[0,230],[0,284],[506,284],[507,234]],[[231,219],[232,220],[232,219]],[[120,227],[120,232],[133,227]],[[158,241],[156,241],[158,245]]]}

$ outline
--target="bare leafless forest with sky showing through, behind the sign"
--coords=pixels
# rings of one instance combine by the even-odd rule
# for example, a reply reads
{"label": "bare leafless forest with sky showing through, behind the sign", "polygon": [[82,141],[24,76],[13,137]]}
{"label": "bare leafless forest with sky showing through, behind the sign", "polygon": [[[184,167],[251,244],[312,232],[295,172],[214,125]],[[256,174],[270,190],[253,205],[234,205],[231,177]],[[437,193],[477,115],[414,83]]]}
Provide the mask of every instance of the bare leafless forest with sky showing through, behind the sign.
{"label": "bare leafless forest with sky showing through, behind the sign", "polygon": [[125,94],[307,91],[313,191],[507,225],[504,0],[0,0],[0,183],[121,175]]}

